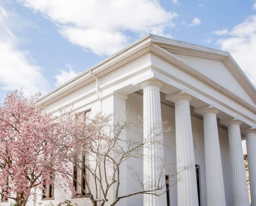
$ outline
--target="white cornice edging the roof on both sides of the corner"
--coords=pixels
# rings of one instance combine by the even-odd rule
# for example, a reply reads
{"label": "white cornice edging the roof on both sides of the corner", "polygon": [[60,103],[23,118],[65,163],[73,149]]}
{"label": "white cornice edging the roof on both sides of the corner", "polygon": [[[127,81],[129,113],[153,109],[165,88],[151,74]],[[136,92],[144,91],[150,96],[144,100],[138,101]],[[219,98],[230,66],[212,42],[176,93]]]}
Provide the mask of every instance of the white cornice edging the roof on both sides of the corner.
{"label": "white cornice edging the roof on both sides of the corner", "polygon": [[[92,78],[92,81],[94,80],[93,77],[89,74],[90,71],[92,71],[92,72],[95,71],[96,73],[98,71],[100,71],[100,74],[103,74],[104,72],[106,74],[106,72],[109,71],[109,67],[111,65],[113,67],[113,64],[114,65],[116,65],[118,63],[120,64],[120,62],[121,62],[121,64],[124,63],[125,62],[124,59],[127,58],[127,57],[132,56],[133,52],[135,52],[135,54],[138,53],[138,51],[139,51],[138,48],[143,50],[143,48],[145,49],[146,44],[152,44],[152,43],[157,44],[157,45],[162,44],[166,48],[168,48],[168,46],[170,46],[170,47],[175,47],[176,46],[176,48],[182,47],[182,48],[188,49],[190,51],[191,50],[197,51],[198,54],[207,53],[208,58],[217,58],[217,57],[220,58],[220,60],[222,60],[223,63],[226,62],[231,67],[234,67],[234,68],[237,69],[236,72],[232,73],[232,75],[236,79],[237,78],[238,79],[242,78],[242,80],[244,81],[244,83],[243,83],[244,89],[246,89],[247,91],[249,90],[248,91],[249,96],[253,99],[254,102],[256,102],[256,89],[255,89],[255,87],[253,86],[251,81],[248,79],[248,77],[245,75],[245,73],[241,70],[241,68],[237,65],[237,63],[232,58],[230,53],[224,52],[224,51],[219,50],[219,49],[209,48],[209,47],[200,46],[200,45],[197,45],[197,44],[191,44],[191,43],[178,41],[178,40],[174,40],[174,39],[170,39],[170,38],[166,38],[166,37],[161,37],[161,36],[157,36],[157,35],[148,34],[148,35],[142,37],[141,39],[131,43],[128,46],[126,46],[125,48],[123,48],[119,52],[115,53],[114,55],[100,61],[99,63],[95,64],[92,67],[89,67],[87,70],[85,70],[84,72],[82,72],[78,76],[72,78],[71,80],[62,84],[58,88],[52,90],[48,94],[43,95],[39,99],[38,104],[44,104],[46,102],[53,101],[53,99],[61,98],[61,97],[65,96],[66,94],[68,94],[69,92],[72,92],[72,91],[74,91],[74,90],[76,90],[80,87],[83,87],[83,85],[86,85],[85,83],[89,83],[88,81],[89,81],[90,77]],[[182,49],[180,49],[180,50],[182,50]],[[195,52],[195,53],[197,53],[197,52]],[[128,54],[129,54],[129,56],[127,56]],[[113,69],[113,68],[111,68],[111,69]],[[96,74],[96,76],[97,76],[97,74]],[[81,86],[80,86],[80,84],[81,84]]]}

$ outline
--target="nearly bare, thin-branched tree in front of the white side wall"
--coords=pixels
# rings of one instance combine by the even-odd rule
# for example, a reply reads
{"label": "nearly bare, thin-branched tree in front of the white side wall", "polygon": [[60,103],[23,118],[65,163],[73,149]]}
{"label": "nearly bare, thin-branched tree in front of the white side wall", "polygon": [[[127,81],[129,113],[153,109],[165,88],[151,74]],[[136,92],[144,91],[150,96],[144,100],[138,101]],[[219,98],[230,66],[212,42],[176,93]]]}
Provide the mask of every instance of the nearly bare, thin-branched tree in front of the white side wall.
{"label": "nearly bare, thin-branched tree in front of the white side wall", "polygon": [[[74,182],[71,187],[73,196],[86,195],[94,206],[103,206],[106,202],[113,206],[119,200],[137,194],[159,196],[179,181],[177,177],[173,178],[177,175],[173,163],[163,157],[155,159],[161,165],[158,168],[161,173],[150,185],[144,183],[143,172],[128,164],[129,160],[143,158],[143,148],[163,144],[157,137],[169,129],[162,130],[162,125],[149,128],[148,135],[144,136],[143,119],[133,114],[113,123],[112,115],[62,111],[56,122],[59,135],[52,143],[58,148],[61,159],[73,165],[73,173],[69,173]],[[122,180],[127,170],[138,187],[132,193],[124,194],[120,189],[126,187]],[[169,175],[168,179],[165,174]]]}

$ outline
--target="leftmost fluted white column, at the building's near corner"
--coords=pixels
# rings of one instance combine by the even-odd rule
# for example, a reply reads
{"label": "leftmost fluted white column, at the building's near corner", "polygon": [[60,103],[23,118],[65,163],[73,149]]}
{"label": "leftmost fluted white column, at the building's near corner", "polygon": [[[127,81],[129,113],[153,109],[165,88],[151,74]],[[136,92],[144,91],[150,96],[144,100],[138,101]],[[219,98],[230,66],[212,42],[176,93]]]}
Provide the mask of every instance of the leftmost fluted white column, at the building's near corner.
{"label": "leftmost fluted white column, at the building's near corner", "polygon": [[[143,149],[144,190],[157,187],[159,178],[164,180],[164,174],[161,173],[163,165],[163,137],[160,88],[162,85],[163,83],[159,80],[147,80],[140,84],[140,88],[143,89],[143,133],[145,143]],[[153,130],[154,132],[152,132]],[[161,194],[162,192],[164,190],[152,193]],[[167,205],[167,201],[164,195],[144,194],[143,205],[162,206]]]}

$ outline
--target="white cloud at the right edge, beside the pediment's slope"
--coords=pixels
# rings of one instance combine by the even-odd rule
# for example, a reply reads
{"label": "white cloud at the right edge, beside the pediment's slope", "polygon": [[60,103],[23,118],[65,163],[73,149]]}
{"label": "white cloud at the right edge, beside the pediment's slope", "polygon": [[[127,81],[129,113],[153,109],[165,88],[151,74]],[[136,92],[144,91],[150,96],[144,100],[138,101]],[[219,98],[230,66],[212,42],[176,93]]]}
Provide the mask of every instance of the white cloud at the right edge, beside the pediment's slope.
{"label": "white cloud at the right edge, beside the pediment's slope", "polygon": [[227,50],[256,86],[256,15],[236,25],[227,38],[217,41]]}

